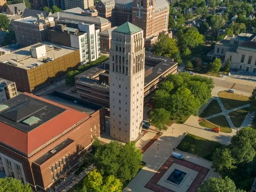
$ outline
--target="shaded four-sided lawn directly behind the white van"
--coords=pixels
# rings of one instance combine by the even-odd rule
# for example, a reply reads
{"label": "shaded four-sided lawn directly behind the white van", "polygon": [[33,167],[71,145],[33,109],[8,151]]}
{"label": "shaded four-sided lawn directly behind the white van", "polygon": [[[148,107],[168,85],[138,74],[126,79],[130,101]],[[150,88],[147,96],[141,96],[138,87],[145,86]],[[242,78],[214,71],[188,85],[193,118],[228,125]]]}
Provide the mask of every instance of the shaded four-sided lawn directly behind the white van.
{"label": "shaded four-sided lawn directly behind the white van", "polygon": [[212,154],[222,144],[188,133],[179,143],[177,149],[212,161]]}

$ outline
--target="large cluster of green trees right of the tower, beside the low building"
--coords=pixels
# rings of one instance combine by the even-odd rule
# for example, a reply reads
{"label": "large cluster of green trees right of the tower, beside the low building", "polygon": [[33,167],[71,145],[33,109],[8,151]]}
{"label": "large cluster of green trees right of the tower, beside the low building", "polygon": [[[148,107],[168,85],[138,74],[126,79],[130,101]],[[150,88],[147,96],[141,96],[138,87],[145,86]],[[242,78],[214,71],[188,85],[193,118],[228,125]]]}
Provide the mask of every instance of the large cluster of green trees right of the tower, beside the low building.
{"label": "large cluster of green trees right of the tower, beside the low building", "polygon": [[154,93],[154,108],[170,112],[171,118],[197,115],[202,105],[211,98],[213,81],[199,75],[180,73],[166,77],[163,86]]}

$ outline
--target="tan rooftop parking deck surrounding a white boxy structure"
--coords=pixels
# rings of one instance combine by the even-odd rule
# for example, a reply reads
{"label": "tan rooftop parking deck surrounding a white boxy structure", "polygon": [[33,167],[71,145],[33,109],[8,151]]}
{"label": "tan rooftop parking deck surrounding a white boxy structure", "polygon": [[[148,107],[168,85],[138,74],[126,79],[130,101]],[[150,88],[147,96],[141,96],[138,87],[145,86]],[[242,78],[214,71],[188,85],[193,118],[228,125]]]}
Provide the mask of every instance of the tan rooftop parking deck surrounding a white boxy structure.
{"label": "tan rooftop parking deck surrounding a white boxy structure", "polygon": [[[32,58],[30,48],[32,46],[35,46],[38,44],[45,45],[46,56],[41,57],[41,58]],[[52,58],[56,59],[58,57],[62,57],[63,55],[69,54],[73,51],[76,51],[76,49],[71,48],[71,47],[67,48],[66,46],[64,47],[62,45],[57,45],[57,44],[50,43],[50,42],[43,42],[43,43],[37,43],[34,45],[30,45],[30,46],[18,49],[17,51],[14,51],[14,52],[9,52],[5,55],[1,55],[0,62],[6,63],[6,65],[14,65],[19,68],[29,70],[30,69],[29,66],[34,63],[39,63],[40,65],[44,65],[42,60],[47,57],[52,57]],[[8,62],[8,60],[10,62]]]}

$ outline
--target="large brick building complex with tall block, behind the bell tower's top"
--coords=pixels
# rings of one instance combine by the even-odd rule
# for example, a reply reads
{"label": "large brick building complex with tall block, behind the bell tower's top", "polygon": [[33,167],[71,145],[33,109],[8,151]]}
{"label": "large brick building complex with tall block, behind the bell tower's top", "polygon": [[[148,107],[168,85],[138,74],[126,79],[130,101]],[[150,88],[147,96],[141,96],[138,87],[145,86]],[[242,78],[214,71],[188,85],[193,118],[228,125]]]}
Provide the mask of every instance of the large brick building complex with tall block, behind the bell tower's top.
{"label": "large brick building complex with tall block, behind the bell tower's top", "polygon": [[101,17],[111,21],[112,27],[119,26],[126,21],[140,27],[144,31],[144,38],[151,46],[155,43],[155,36],[168,31],[169,1],[167,0],[100,0],[96,9]]}

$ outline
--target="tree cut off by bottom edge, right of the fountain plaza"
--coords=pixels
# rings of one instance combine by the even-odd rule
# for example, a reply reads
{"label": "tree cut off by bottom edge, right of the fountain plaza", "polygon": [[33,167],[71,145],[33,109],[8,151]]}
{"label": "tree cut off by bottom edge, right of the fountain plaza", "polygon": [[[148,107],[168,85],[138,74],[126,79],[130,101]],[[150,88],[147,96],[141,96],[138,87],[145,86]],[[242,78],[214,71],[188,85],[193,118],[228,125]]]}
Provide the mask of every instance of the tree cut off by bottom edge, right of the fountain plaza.
{"label": "tree cut off by bottom edge, right of the fountain plaza", "polygon": [[236,189],[234,181],[229,177],[210,177],[197,189],[197,192],[245,192]]}

